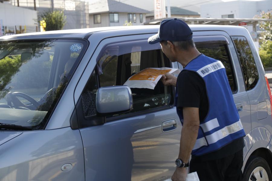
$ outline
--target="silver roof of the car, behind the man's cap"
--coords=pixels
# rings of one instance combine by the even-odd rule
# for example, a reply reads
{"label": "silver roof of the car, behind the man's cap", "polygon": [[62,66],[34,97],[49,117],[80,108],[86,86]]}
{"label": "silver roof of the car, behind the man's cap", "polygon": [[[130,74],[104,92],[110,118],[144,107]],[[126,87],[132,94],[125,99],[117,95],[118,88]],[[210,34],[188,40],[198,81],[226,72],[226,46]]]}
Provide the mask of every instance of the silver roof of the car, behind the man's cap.
{"label": "silver roof of the car, behind the man's cap", "polygon": [[[119,26],[119,27],[98,27],[98,28],[84,28],[73,30],[57,30],[45,31],[36,33],[22,33],[16,35],[2,36],[0,40],[22,40],[22,39],[56,39],[56,38],[71,38],[71,39],[86,39],[91,34],[106,31],[113,35],[113,31],[121,31],[124,35],[128,34],[142,34],[142,33],[157,33],[159,25],[142,25],[142,26]],[[219,30],[225,31],[232,35],[242,35],[246,28],[238,26],[225,25],[189,25],[192,31],[210,31]],[[107,34],[107,33],[106,33]],[[118,33],[120,35],[120,33]],[[122,34],[122,33],[121,33]]]}

